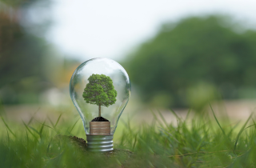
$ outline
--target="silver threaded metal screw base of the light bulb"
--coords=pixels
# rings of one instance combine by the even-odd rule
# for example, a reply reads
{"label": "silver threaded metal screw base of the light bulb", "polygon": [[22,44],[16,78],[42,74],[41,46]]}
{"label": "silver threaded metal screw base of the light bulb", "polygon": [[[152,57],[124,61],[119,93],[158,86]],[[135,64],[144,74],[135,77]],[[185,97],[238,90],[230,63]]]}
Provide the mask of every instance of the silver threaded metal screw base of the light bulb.
{"label": "silver threaded metal screw base of the light bulb", "polygon": [[113,149],[113,134],[90,135],[86,134],[87,147],[93,152],[108,152]]}

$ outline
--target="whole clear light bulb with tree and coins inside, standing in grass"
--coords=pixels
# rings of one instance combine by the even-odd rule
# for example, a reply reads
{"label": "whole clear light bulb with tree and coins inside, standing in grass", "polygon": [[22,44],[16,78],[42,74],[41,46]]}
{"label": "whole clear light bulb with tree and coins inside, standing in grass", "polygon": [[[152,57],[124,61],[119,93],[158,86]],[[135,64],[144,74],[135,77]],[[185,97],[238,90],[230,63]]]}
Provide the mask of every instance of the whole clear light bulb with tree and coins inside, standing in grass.
{"label": "whole clear light bulb with tree and coins inside, standing in grass", "polygon": [[126,70],[109,58],[83,62],[70,79],[70,97],[82,118],[89,150],[113,150],[113,135],[130,98]]}

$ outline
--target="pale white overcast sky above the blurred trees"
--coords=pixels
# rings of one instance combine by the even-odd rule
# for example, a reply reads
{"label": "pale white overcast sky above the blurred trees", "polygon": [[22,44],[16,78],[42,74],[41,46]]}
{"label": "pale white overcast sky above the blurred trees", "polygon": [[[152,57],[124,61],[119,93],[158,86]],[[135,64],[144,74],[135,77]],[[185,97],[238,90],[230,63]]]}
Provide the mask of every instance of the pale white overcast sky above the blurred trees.
{"label": "pale white overcast sky above the blurred trees", "polygon": [[228,14],[256,27],[255,6],[255,0],[54,0],[46,38],[70,58],[121,61],[162,23],[188,16]]}

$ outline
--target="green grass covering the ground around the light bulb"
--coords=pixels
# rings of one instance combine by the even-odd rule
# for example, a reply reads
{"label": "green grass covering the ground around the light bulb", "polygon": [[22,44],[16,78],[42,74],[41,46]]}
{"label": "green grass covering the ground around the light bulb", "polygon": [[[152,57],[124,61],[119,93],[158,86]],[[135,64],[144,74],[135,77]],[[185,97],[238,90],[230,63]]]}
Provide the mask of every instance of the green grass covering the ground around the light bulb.
{"label": "green grass covering the ground around the light bulb", "polygon": [[218,121],[212,114],[166,122],[152,111],[150,124],[122,122],[113,154],[90,153],[61,135],[85,138],[81,121],[8,122],[1,116],[1,167],[255,167],[256,132],[252,115],[242,124]]}

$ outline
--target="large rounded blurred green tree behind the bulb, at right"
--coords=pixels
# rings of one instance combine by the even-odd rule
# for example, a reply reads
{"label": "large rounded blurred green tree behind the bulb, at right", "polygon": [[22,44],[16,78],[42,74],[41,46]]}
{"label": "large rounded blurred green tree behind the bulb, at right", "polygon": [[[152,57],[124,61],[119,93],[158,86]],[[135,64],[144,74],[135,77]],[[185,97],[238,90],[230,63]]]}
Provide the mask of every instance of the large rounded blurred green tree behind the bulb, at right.
{"label": "large rounded blurred green tree behind the bulb, at right", "polygon": [[256,31],[238,32],[238,26],[219,16],[165,24],[125,68],[154,106],[200,108],[216,98],[255,98]]}

